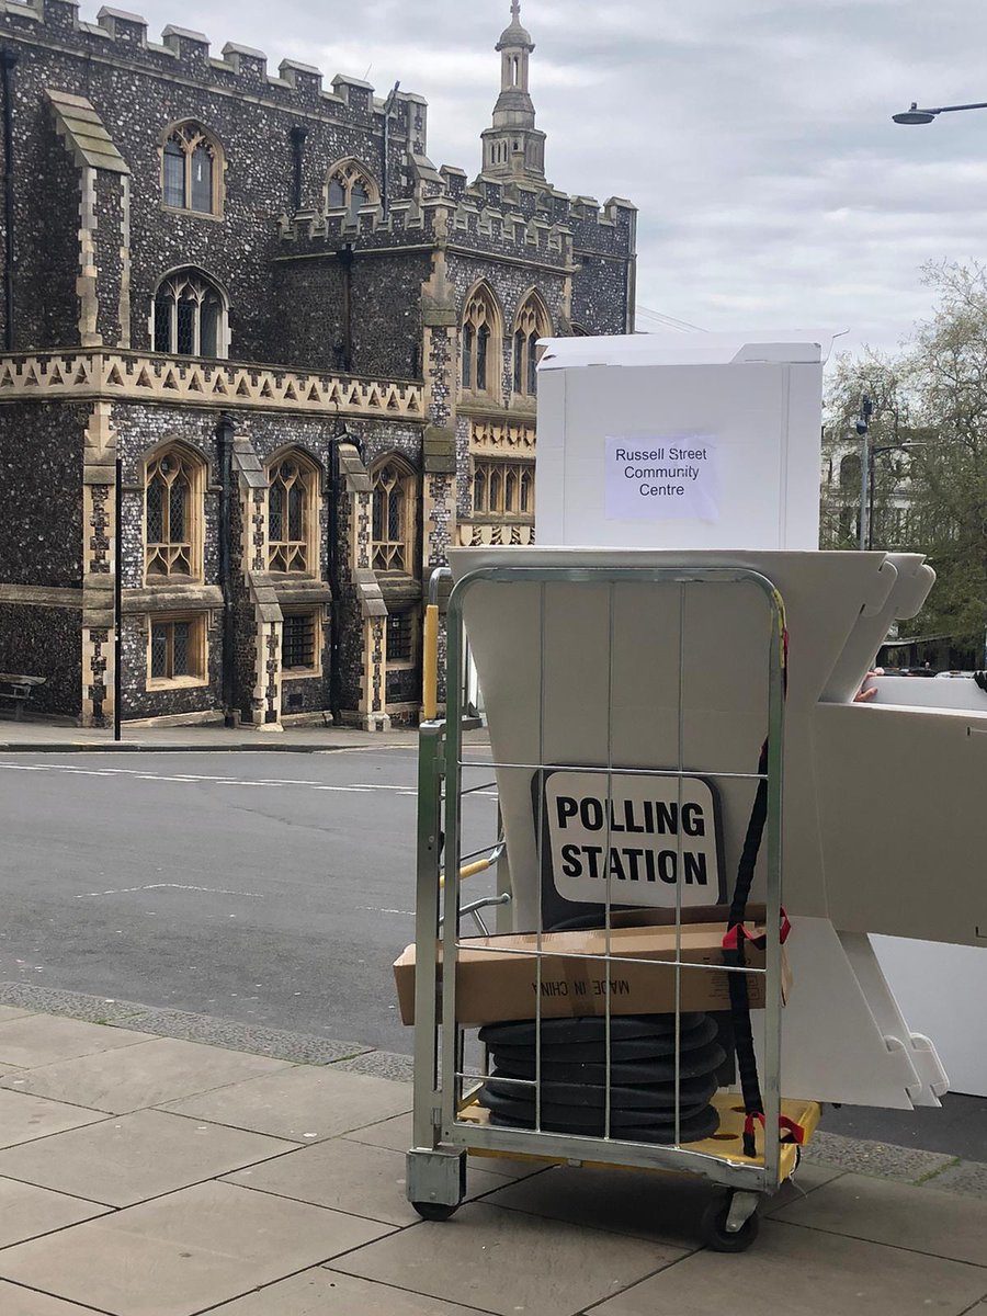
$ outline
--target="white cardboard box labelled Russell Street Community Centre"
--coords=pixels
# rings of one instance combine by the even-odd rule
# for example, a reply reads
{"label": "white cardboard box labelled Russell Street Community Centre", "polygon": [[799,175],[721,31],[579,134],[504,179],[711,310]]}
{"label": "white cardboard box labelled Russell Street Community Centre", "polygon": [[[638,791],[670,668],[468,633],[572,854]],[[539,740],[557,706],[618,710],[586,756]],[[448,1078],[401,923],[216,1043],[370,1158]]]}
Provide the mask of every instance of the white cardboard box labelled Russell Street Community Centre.
{"label": "white cardboard box labelled Russell Street Community Centre", "polygon": [[728,334],[551,340],[538,542],[819,547],[824,359],[819,342]]}

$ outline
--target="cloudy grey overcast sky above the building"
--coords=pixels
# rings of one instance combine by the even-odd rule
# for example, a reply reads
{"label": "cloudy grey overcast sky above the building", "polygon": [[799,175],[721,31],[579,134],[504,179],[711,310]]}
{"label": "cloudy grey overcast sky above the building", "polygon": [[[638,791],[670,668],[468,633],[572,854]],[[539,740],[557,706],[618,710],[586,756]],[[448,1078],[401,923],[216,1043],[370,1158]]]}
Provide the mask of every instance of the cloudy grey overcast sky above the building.
{"label": "cloudy grey overcast sky above the building", "polygon": [[[122,5],[122,0],[120,0]],[[508,0],[128,0],[167,22],[430,104],[436,164],[479,167]],[[83,16],[95,18],[89,0]],[[555,187],[641,211],[638,326],[826,326],[894,347],[926,261],[987,247],[984,0],[524,0]]]}

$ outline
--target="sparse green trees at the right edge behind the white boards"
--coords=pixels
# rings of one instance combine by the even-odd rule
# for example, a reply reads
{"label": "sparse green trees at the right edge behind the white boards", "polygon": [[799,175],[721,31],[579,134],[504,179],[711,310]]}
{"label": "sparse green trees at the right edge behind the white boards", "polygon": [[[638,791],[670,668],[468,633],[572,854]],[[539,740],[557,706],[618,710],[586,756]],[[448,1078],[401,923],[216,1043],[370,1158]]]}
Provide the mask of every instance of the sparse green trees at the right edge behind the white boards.
{"label": "sparse green trees at the right edge behind the white boards", "polygon": [[933,313],[900,354],[869,351],[837,363],[826,399],[822,545],[858,544],[854,422],[866,392],[874,401],[871,544],[929,557],[937,583],[917,633],[950,634],[954,649],[979,655],[987,626],[987,270],[929,266],[925,283]]}

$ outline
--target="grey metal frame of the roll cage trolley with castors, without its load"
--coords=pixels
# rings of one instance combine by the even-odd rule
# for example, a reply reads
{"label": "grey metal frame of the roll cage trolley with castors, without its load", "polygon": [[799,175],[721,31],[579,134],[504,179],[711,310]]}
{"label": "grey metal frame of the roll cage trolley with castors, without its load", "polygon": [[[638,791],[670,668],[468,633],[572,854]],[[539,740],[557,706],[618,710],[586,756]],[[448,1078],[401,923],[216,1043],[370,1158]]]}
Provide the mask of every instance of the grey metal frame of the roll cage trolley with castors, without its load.
{"label": "grey metal frame of the roll cage trolley with castors, without its load", "polygon": [[[607,1036],[607,1115],[604,1128],[611,1136],[582,1136],[574,1133],[549,1132],[541,1128],[541,1049],[536,1044],[536,1080],[526,1083],[536,1094],[534,1128],[512,1128],[494,1125],[484,1120],[486,1112],[478,1105],[476,1094],[484,1074],[466,1063],[465,1029],[457,1023],[455,974],[442,973],[442,965],[457,962],[457,954],[463,938],[461,923],[465,915],[474,913],[480,923],[478,911],[484,905],[504,904],[509,898],[500,895],[483,900],[465,903],[461,880],[445,880],[446,874],[461,876],[475,871],[487,863],[465,865],[472,855],[462,853],[462,803],[463,770],[472,767],[463,758],[463,683],[459,679],[465,662],[463,604],[470,592],[480,582],[511,583],[528,582],[540,588],[542,625],[545,619],[545,591],[551,583],[605,586],[609,590],[611,620],[613,620],[615,590],[621,584],[678,587],[680,617],[684,619],[687,592],[707,584],[754,586],[767,604],[770,636],[767,637],[767,759],[766,772],[717,772],[715,765],[703,765],[704,778],[745,779],[751,783],[766,780],[767,817],[763,844],[763,871],[766,878],[766,954],[765,967],[716,966],[717,973],[759,974],[765,983],[765,1033],[762,1057],[763,1129],[758,1132],[757,1153],[744,1155],[741,1150],[741,1126],[744,1108],[736,1094],[717,1099],[721,1112],[721,1129],[736,1136],[729,1140],[725,1133],[719,1140],[682,1144],[679,1140],[679,1050],[676,1008],[676,1049],[675,1049],[675,1140],[669,1145],[654,1142],[625,1141],[613,1133],[609,1120],[609,1033],[611,1000],[607,995],[605,1036]],[[434,629],[434,628],[433,628]],[[559,567],[559,566],[503,566],[478,570],[454,587],[447,612],[447,708],[445,720],[422,722],[420,730],[418,761],[418,834],[417,834],[417,895],[416,895],[416,980],[415,980],[415,1115],[413,1148],[408,1153],[407,1192],[408,1199],[420,1215],[441,1220],[453,1215],[466,1195],[466,1155],[508,1155],[513,1158],[534,1158],[547,1163],[595,1165],[626,1167],[650,1171],[688,1173],[704,1177],[713,1186],[726,1190],[707,1212],[704,1232],[707,1241],[721,1250],[742,1250],[753,1241],[757,1230],[757,1207],[762,1198],[776,1192],[778,1187],[794,1173],[799,1148],[782,1141],[779,1119],[788,1115],[797,1120],[808,1134],[819,1120],[819,1107],[815,1103],[783,1101],[780,1095],[780,1024],[782,1024],[782,754],[784,730],[784,605],[771,582],[750,570],[725,567]],[[611,659],[613,632],[609,637]],[[679,732],[678,755],[672,765],[661,767],[622,770],[612,761],[612,675],[608,708],[608,758],[609,762],[582,771],[605,771],[608,790],[613,778],[621,771],[636,775],[654,775],[678,779],[679,797],[683,782],[696,775],[696,769],[684,767],[684,625],[679,625]],[[544,654],[542,654],[544,661]],[[612,661],[611,661],[612,667]],[[545,672],[542,669],[542,682]],[[426,700],[428,701],[428,700]],[[540,708],[544,700],[540,699]],[[538,732],[540,746],[544,744],[544,728]],[[553,765],[538,754],[533,763],[497,763],[495,770],[520,770],[541,774],[557,769],[571,770],[571,765]],[[762,765],[763,766],[763,765]],[[478,790],[478,788],[475,788]],[[544,792],[538,792],[544,799]],[[538,845],[541,846],[541,829]],[[680,836],[676,845],[680,846]],[[609,845],[609,820],[607,824],[607,845]],[[503,842],[488,857],[488,863],[500,858]],[[541,855],[538,857],[541,859]],[[679,870],[680,871],[680,870]],[[675,896],[675,957],[666,965],[675,971],[675,1003],[679,1007],[682,973],[709,971],[713,966],[684,963],[680,958],[682,936],[682,883],[676,880]],[[605,954],[599,958],[600,969],[609,978],[611,965],[620,965],[620,957],[611,954],[611,895],[607,879],[605,903]],[[537,934],[538,982],[541,983],[542,933]],[[536,1033],[541,1037],[541,999],[537,999]],[[619,1130],[617,1130],[619,1133]]]}

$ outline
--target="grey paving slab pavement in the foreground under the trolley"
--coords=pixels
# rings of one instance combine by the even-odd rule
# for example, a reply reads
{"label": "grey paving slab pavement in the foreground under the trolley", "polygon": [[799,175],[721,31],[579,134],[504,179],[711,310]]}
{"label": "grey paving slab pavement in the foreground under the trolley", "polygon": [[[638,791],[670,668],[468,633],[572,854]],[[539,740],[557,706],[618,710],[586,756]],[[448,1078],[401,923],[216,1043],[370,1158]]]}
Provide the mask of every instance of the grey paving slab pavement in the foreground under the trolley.
{"label": "grey paving slab pavement in the foreground under the trolley", "polygon": [[[3,1316],[961,1316],[987,1175],[836,1134],[742,1255],[695,1180],[472,1158],[445,1224],[404,1196],[411,1087],[343,1044],[242,1050],[33,1011],[0,986]],[[161,1021],[158,1021],[161,1023]],[[262,1050],[263,1054],[258,1054]],[[282,1054],[278,1054],[278,1053]],[[380,1073],[400,1073],[383,1058]],[[987,1307],[980,1308],[987,1316]]]}

